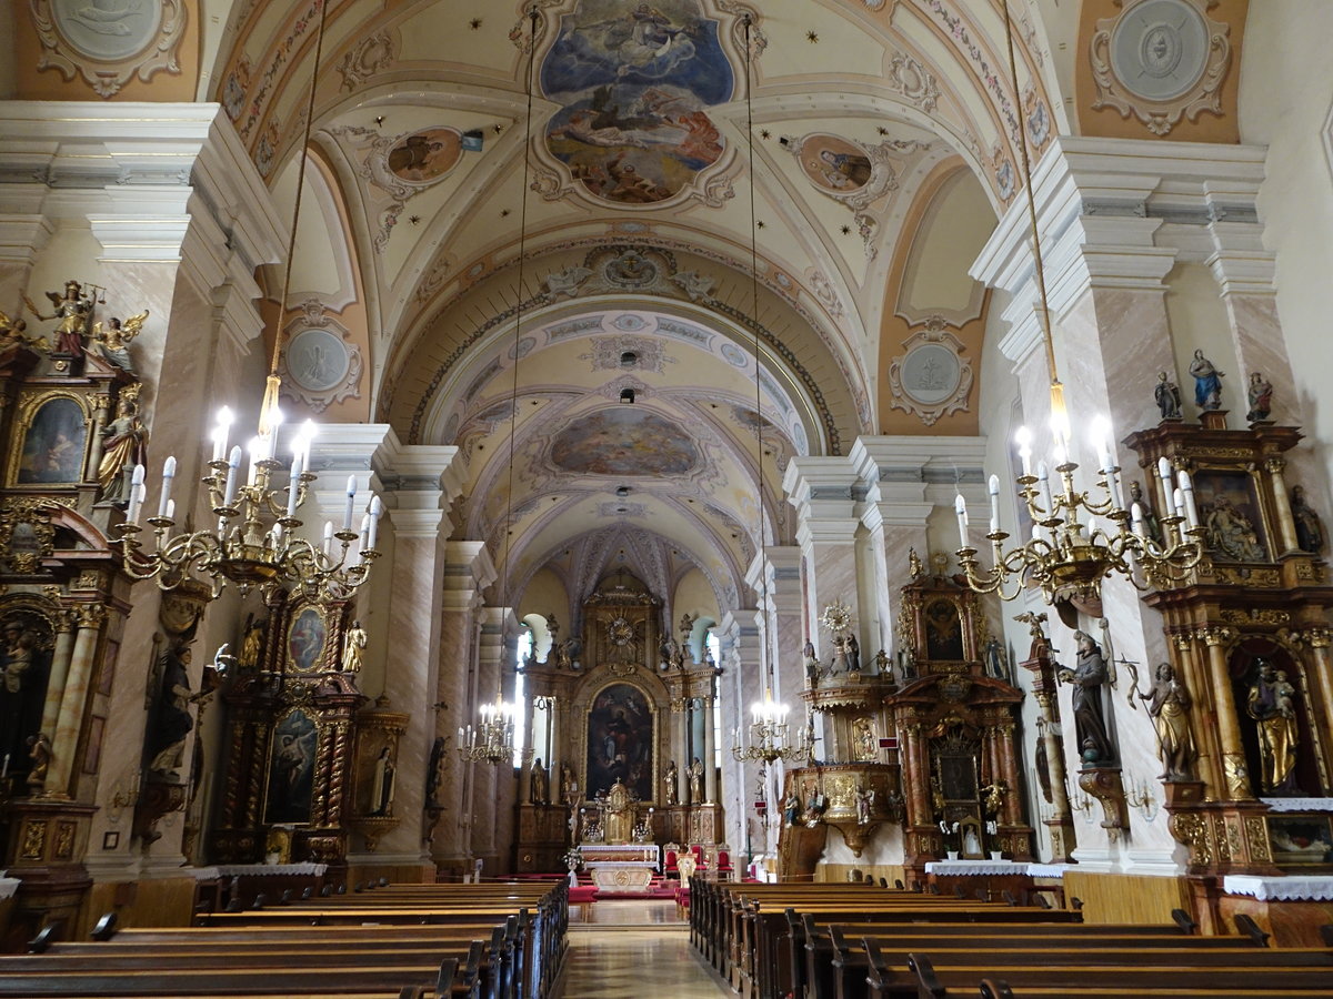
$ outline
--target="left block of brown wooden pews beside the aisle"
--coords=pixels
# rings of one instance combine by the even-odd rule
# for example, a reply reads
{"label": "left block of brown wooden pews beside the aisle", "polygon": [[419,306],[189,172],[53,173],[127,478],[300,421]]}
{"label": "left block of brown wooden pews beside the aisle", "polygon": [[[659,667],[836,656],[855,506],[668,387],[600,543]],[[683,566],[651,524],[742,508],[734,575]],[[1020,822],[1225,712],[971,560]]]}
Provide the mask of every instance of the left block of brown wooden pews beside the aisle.
{"label": "left block of brown wooden pews beside the aisle", "polygon": [[201,927],[115,932],[104,919],[97,943],[39,935],[41,954],[0,958],[0,994],[547,999],[565,898],[563,883],[427,884],[203,914]]}

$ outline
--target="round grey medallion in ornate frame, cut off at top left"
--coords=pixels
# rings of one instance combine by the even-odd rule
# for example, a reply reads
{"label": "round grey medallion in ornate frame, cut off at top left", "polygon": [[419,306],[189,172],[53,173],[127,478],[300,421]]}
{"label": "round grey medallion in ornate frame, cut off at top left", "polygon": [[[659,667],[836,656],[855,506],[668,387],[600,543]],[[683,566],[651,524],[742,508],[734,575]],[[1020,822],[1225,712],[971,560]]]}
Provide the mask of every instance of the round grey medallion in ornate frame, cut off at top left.
{"label": "round grey medallion in ornate frame, cut off at top left", "polygon": [[41,40],[37,69],[81,73],[101,97],[137,76],[179,73],[176,51],[185,33],[181,0],[31,0]]}

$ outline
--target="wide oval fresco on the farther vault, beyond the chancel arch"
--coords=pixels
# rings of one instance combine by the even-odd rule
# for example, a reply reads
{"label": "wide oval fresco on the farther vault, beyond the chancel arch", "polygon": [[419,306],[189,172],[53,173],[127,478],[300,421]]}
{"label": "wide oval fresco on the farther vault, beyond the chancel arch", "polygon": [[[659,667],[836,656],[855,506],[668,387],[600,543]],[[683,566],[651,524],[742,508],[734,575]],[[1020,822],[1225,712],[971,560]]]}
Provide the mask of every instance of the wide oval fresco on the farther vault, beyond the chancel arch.
{"label": "wide oval fresco on the farther vault, beyond the chancel arch", "polygon": [[593,476],[684,476],[700,462],[689,434],[637,406],[572,421],[556,436],[551,458],[565,472]]}

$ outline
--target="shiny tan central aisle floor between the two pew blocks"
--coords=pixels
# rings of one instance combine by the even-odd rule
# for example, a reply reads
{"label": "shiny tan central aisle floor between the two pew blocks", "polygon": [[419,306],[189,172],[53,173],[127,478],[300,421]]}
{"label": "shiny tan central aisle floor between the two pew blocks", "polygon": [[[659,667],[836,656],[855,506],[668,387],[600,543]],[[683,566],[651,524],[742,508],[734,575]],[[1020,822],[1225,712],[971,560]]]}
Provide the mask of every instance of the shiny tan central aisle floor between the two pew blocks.
{"label": "shiny tan central aisle floor between the two pew blocks", "polygon": [[689,946],[674,902],[596,902],[571,912],[564,999],[730,999]]}

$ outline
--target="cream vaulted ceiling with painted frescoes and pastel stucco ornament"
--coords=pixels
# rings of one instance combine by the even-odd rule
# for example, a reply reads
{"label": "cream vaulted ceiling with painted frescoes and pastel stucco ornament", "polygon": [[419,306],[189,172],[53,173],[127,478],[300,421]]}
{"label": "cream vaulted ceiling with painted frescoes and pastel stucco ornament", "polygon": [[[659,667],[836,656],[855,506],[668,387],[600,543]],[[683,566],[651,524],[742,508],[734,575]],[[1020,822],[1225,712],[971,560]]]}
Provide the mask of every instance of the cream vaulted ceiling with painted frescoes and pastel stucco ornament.
{"label": "cream vaulted ceiling with painted frescoes and pastel stucco ornament", "polygon": [[[619,563],[748,603],[788,461],[888,418],[885,320],[980,350],[966,268],[1020,117],[1040,145],[1061,113],[1018,7],[1014,95],[998,3],[331,3],[293,290],[365,361],[316,408],[457,444],[459,535],[509,538],[511,591]],[[317,20],[247,0],[213,40],[288,202]]]}

